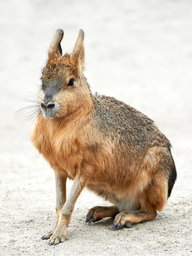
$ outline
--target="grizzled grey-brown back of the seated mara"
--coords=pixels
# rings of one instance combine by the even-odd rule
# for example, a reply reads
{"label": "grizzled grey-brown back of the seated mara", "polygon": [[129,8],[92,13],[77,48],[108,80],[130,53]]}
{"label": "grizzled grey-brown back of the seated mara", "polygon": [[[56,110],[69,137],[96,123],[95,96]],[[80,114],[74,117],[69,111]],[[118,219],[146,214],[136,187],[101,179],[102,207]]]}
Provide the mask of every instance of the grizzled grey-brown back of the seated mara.
{"label": "grizzled grey-brown back of the seated mara", "polygon": [[130,148],[134,154],[144,153],[154,146],[171,147],[154,121],[113,97],[96,95],[94,121],[104,136],[110,136],[119,146]]}

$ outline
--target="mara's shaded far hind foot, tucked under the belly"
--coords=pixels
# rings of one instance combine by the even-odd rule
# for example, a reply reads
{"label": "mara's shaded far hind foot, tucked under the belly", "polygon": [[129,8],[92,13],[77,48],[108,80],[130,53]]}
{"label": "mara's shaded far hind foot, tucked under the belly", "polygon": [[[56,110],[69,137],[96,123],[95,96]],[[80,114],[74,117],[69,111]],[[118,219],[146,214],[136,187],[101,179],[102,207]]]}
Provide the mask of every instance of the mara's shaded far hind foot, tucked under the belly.
{"label": "mara's shaded far hind foot, tucked under the belly", "polygon": [[119,210],[115,206],[95,206],[88,211],[85,222],[90,224],[91,222],[100,221],[102,218],[115,217],[117,213],[119,213]]}

